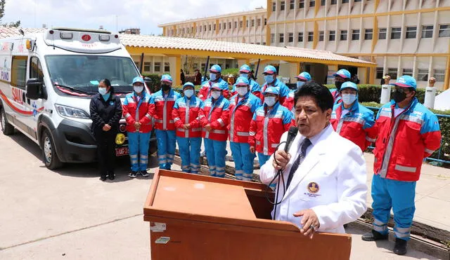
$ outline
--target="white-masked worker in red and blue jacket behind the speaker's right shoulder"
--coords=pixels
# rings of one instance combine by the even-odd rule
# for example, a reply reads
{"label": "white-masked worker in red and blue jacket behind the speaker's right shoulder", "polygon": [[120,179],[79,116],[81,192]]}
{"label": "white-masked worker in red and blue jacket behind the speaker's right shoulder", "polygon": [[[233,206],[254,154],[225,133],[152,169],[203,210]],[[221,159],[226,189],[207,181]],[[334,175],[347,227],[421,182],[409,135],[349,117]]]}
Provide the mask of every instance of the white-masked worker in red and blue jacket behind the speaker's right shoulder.
{"label": "white-masked worker in red and blue jacket behind the speaker's right shoulder", "polygon": [[330,123],[340,136],[354,142],[364,152],[378,134],[373,111],[359,104],[358,87],[351,81],[342,84],[340,96],[342,102],[333,107]]}

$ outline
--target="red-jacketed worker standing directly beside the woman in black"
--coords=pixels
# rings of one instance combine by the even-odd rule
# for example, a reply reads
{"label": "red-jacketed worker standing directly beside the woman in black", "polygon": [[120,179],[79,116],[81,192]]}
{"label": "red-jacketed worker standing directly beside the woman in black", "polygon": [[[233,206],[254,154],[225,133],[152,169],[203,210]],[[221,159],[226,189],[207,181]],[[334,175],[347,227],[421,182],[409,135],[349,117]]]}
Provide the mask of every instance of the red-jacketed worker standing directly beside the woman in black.
{"label": "red-jacketed worker standing directly beside the woman in black", "polygon": [[131,173],[136,178],[138,173],[148,177],[148,145],[152,120],[150,116],[150,95],[144,90],[144,81],[137,76],[133,79],[133,93],[128,94],[123,102],[123,115],[127,121],[127,135]]}

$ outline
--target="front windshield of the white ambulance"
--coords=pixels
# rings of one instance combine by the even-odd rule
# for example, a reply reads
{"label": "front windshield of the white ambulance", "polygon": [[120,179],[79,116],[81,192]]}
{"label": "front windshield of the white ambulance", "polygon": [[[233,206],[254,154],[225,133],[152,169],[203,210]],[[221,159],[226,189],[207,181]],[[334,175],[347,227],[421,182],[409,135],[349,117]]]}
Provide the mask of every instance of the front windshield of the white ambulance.
{"label": "front windshield of the white ambulance", "polygon": [[98,93],[98,81],[108,78],[116,93],[130,93],[139,76],[129,57],[102,55],[46,55],[51,81],[83,93]]}

